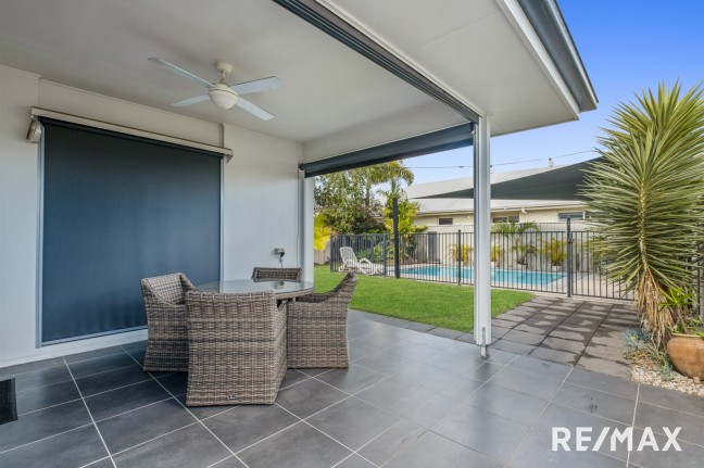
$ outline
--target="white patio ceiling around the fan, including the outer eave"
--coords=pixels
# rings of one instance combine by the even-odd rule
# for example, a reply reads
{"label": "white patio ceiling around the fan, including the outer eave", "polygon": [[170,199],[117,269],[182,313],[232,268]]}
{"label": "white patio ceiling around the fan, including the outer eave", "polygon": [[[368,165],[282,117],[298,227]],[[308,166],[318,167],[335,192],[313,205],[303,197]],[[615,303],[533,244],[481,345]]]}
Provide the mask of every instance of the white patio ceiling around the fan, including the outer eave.
{"label": "white patio ceiling around the fan, including the outer eave", "polygon": [[[575,101],[514,0],[302,1],[323,5],[492,123],[492,134],[576,119]],[[8,0],[0,64],[42,79],[304,143],[315,161],[466,123],[449,106],[275,2]],[[259,121],[210,102],[172,107],[203,89],[147,61],[159,56],[216,80],[277,76],[251,101]],[[529,90],[529,92],[527,92]],[[39,105],[42,105],[40,102]]]}

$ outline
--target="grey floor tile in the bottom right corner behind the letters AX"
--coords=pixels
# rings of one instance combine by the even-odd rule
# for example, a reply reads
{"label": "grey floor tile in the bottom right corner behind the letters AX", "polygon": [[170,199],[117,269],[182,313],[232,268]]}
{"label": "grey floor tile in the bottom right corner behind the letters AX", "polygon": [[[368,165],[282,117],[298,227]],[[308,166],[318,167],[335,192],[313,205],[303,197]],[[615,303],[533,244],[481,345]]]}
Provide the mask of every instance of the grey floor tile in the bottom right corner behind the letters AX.
{"label": "grey floor tile in the bottom right corner behind the letters AX", "polygon": [[[636,428],[633,431],[633,444],[638,446],[643,431]],[[704,447],[683,442],[677,438],[677,443],[681,451],[669,446],[664,451],[667,444],[667,438],[655,434],[655,443],[658,451],[652,446],[644,446],[642,451],[631,452],[630,461],[644,468],[701,468],[704,460]]]}

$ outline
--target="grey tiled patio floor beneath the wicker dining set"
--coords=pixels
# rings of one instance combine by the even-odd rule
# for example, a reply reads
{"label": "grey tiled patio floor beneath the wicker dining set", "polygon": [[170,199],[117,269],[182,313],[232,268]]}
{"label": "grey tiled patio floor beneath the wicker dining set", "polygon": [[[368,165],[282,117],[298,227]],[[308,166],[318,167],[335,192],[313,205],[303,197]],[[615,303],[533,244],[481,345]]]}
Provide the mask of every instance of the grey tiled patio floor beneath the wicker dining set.
{"label": "grey tiled patio floor beneath the wicker dining set", "polygon": [[[1,466],[700,466],[700,399],[437,337],[351,312],[349,369],[290,369],[272,406],[185,407],[184,374],[143,372],[144,342],[0,369],[20,419]],[[681,452],[577,452],[576,427],[681,427]],[[551,430],[573,431],[552,451]],[[115,465],[113,465],[113,463]]]}

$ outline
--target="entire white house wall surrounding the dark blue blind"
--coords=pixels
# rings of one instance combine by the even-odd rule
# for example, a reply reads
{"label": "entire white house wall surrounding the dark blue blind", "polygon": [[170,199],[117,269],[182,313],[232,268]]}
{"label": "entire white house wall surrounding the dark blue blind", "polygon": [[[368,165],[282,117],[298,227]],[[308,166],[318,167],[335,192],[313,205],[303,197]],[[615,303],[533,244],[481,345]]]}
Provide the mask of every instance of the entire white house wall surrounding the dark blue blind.
{"label": "entire white house wall surrounding the dark blue blind", "polygon": [[[116,333],[37,346],[37,239],[39,147],[25,141],[30,107],[200,141],[235,151],[225,165],[224,274],[249,277],[255,265],[277,265],[275,246],[287,250],[286,266],[310,257],[300,245],[304,184],[298,178],[302,147],[278,138],[194,121],[177,114],[41,81],[0,66],[0,367],[88,351],[146,338]],[[303,187],[304,188],[304,187]],[[307,219],[312,226],[312,218]],[[299,230],[300,228],[300,230]]]}

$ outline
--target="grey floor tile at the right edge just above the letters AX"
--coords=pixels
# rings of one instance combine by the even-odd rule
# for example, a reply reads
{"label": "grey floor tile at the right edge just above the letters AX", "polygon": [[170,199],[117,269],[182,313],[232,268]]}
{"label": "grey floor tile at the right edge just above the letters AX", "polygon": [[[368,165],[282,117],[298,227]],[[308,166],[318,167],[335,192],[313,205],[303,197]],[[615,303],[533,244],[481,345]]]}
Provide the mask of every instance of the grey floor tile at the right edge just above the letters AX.
{"label": "grey floor tile at the right edge just above the letters AX", "polygon": [[704,446],[704,417],[702,416],[694,416],[639,401],[636,409],[636,427],[651,427],[654,432],[661,434],[665,433],[663,427],[670,430],[681,427],[682,430],[677,438],[678,440]]}

